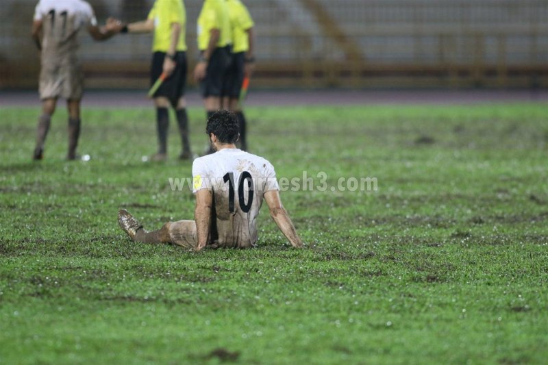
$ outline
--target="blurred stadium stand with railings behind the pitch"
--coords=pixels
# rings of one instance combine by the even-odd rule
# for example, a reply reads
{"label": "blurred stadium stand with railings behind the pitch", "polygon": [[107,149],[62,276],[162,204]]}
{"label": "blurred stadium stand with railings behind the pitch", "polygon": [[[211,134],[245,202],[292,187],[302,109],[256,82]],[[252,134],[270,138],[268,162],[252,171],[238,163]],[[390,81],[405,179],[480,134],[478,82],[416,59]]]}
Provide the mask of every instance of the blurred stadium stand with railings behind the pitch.
{"label": "blurred stadium stand with railings behind the pitch", "polygon": [[[35,88],[38,53],[29,37],[36,0],[0,7],[0,89]],[[99,21],[147,14],[151,0],[92,0]],[[186,0],[188,55],[196,51],[201,0]],[[254,86],[547,87],[548,1],[253,0]],[[82,37],[90,88],[147,85],[149,36],[108,43]]]}

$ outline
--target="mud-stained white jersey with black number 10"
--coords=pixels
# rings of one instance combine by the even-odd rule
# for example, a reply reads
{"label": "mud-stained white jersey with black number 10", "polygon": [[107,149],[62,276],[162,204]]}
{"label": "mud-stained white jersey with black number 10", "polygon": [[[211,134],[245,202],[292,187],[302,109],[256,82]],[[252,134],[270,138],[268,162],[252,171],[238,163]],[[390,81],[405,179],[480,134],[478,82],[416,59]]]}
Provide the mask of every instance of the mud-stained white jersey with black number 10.
{"label": "mud-stained white jersey with black number 10", "polygon": [[240,149],[194,160],[193,192],[213,192],[209,242],[219,247],[252,247],[257,242],[257,216],[265,192],[279,190],[274,167]]}

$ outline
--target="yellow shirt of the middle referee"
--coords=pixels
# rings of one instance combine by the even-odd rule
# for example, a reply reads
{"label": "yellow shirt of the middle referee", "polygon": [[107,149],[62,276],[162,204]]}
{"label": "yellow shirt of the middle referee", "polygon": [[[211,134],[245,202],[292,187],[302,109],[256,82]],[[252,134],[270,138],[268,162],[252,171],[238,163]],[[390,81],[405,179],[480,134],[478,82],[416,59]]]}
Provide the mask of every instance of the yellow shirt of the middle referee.
{"label": "yellow shirt of the middle referee", "polygon": [[232,43],[228,6],[225,0],[203,1],[200,16],[198,16],[198,49],[200,51],[208,49],[211,29],[221,31],[217,47],[225,47]]}

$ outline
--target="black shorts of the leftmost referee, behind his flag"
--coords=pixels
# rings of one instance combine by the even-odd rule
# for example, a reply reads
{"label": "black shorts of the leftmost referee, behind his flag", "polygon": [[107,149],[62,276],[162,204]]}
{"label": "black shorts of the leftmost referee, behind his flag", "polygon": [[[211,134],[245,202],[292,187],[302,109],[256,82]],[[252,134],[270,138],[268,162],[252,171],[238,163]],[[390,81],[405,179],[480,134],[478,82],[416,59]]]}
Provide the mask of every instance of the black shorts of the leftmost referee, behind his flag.
{"label": "black shorts of the leftmost referee, behind his flag", "polygon": [[[158,80],[164,71],[165,52],[154,52],[152,54],[152,64],[150,71],[151,86]],[[177,105],[177,101],[184,97],[186,88],[186,52],[179,51],[175,53],[175,70],[169,78],[164,81],[162,86],[154,93],[153,97],[165,97],[169,99],[172,105]]]}

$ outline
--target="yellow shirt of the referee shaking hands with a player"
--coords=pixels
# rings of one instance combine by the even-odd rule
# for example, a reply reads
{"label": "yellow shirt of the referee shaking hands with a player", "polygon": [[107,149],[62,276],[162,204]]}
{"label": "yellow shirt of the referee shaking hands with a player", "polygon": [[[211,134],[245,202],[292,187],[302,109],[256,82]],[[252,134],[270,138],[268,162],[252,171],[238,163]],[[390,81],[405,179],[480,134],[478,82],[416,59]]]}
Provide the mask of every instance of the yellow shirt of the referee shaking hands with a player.
{"label": "yellow shirt of the referee shaking hands with a player", "polygon": [[186,51],[186,11],[183,0],[156,0],[148,18],[154,19],[153,52],[169,51],[173,23],[181,25],[177,51]]}

